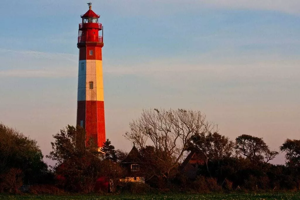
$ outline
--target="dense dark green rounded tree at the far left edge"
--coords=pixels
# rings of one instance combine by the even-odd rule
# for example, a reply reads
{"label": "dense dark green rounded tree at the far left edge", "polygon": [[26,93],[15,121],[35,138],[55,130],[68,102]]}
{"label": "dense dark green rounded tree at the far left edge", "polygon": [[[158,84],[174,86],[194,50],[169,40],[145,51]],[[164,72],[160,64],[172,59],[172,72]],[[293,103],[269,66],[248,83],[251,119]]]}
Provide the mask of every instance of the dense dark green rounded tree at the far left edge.
{"label": "dense dark green rounded tree at the far left edge", "polygon": [[7,173],[21,177],[23,184],[43,182],[49,172],[37,141],[4,124],[0,124],[0,138],[0,182]]}

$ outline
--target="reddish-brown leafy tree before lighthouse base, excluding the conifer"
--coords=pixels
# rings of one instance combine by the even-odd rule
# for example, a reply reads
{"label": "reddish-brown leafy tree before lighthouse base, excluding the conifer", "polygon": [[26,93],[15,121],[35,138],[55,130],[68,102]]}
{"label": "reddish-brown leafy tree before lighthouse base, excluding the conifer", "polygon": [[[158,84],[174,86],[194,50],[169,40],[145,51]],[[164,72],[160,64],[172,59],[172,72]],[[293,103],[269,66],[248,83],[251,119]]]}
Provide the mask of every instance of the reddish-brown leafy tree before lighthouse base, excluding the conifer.
{"label": "reddish-brown leafy tree before lighthouse base, excluding the conifer", "polygon": [[91,192],[102,175],[101,159],[95,142],[85,145],[85,130],[68,125],[53,135],[48,158],[55,160],[55,173],[61,187],[70,191]]}

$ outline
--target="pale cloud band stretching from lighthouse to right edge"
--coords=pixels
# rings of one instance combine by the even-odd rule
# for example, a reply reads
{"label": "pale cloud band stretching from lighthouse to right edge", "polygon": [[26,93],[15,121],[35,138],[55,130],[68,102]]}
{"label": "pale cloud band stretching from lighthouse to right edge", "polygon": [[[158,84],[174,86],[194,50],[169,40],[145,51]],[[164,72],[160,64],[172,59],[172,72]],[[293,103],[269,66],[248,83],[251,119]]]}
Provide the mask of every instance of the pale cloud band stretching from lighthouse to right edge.
{"label": "pale cloud band stretching from lighthouse to right edge", "polygon": [[[299,79],[299,59],[282,55],[238,54],[226,51],[211,51],[190,58],[169,57],[140,63],[128,60],[120,61],[122,66],[110,64],[104,66],[104,73],[116,75],[152,76],[161,79],[180,78],[189,74],[190,77],[202,79],[232,79],[236,78],[274,78]],[[177,80],[176,78],[174,80]]]}

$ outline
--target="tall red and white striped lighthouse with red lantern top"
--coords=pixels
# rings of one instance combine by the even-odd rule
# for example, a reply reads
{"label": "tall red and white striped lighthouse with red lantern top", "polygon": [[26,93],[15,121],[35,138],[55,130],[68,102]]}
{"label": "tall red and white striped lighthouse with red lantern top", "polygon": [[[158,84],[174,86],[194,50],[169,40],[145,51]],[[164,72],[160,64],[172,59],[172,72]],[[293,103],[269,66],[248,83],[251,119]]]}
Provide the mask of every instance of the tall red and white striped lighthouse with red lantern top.
{"label": "tall red and white striped lighthouse with red lantern top", "polygon": [[[102,72],[103,27],[88,3],[89,10],[81,15],[78,43],[77,125],[85,129],[86,144],[90,139],[101,150],[105,142],[104,90]],[[99,35],[101,31],[101,35]]]}

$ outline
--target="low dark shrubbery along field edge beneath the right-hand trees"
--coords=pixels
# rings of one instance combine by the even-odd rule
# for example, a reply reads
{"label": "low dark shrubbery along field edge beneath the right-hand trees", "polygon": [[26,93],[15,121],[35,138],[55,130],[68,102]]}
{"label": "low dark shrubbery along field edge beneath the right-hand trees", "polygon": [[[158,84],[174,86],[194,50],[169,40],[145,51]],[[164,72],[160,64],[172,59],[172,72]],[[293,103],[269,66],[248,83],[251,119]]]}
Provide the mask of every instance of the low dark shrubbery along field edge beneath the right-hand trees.
{"label": "low dark shrubbery along field edge beneath the right-hand trees", "polygon": [[[200,173],[195,179],[184,176],[176,177],[173,181],[173,191],[181,192],[230,192],[230,191],[282,191],[299,190],[299,169],[290,169],[286,166],[268,164],[263,172],[253,168],[235,171],[228,174],[224,180],[218,178],[218,172],[211,170],[211,176],[201,174],[205,166],[200,166]],[[155,183],[152,183],[155,184]]]}

